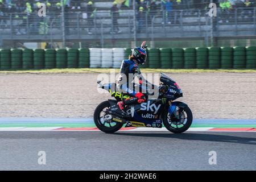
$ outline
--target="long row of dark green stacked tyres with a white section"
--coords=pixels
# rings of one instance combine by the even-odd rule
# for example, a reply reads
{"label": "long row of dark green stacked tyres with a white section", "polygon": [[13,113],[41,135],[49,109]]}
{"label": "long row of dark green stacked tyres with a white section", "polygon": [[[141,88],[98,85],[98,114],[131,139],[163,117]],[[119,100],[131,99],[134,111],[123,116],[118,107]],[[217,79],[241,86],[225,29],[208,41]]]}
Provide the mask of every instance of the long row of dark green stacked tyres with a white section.
{"label": "long row of dark green stacked tyres with a white section", "polygon": [[[0,49],[0,69],[119,68],[131,48]],[[141,68],[256,69],[256,46],[148,48]]]}

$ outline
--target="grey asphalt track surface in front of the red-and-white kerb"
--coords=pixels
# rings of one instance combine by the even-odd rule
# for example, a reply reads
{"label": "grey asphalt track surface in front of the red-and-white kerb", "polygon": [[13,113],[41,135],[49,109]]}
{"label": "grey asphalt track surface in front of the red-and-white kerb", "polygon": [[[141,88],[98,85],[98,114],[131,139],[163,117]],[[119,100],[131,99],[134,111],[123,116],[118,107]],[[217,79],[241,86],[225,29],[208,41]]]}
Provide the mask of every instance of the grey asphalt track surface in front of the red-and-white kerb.
{"label": "grey asphalt track surface in front of the red-and-white kerb", "polygon": [[2,131],[0,146],[0,170],[256,170],[253,132]]}

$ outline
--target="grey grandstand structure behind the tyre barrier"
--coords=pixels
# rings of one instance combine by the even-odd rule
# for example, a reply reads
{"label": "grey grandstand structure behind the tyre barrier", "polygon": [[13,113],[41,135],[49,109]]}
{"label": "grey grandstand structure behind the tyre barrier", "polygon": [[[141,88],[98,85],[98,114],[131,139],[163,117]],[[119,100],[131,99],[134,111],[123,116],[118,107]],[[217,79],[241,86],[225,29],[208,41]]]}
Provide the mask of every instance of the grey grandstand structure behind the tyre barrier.
{"label": "grey grandstand structure behind the tyre barrier", "polygon": [[[3,1],[1,6],[0,0],[1,47],[26,47],[24,43],[28,42],[48,42],[51,48],[64,44],[75,48],[131,47],[142,39],[150,41],[151,47],[170,46],[175,41],[179,43],[176,47],[193,46],[194,43],[196,46],[222,46],[221,40],[225,40],[224,46],[240,46],[239,42],[234,45],[226,40],[253,41],[256,33],[254,1],[250,6],[237,1],[232,9],[226,10],[217,4],[217,16],[213,18],[208,15],[207,8],[211,1],[203,0],[172,1],[171,11],[161,1],[156,1],[155,9],[150,10],[150,1],[144,1],[147,5],[135,3],[134,7],[133,1],[121,0],[117,1],[118,17],[111,13],[113,1],[109,0],[94,0],[93,12],[89,12],[89,1],[67,1],[62,12],[61,7],[57,7],[58,1],[49,0],[51,6],[47,6],[46,17],[38,16],[38,1],[28,2],[31,4],[29,14],[26,13],[27,1],[13,1],[11,5]],[[141,6],[144,9],[140,11]],[[118,33],[113,31],[115,27]],[[181,44],[182,40],[186,40],[186,44],[191,40],[191,44]]]}

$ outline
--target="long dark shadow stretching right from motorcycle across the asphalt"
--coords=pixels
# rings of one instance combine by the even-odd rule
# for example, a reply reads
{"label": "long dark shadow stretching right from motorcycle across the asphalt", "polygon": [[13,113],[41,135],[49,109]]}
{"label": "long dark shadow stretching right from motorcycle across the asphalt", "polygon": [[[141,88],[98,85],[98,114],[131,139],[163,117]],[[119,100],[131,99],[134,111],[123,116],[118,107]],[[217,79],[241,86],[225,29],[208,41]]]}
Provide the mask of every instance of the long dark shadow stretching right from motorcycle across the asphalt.
{"label": "long dark shadow stretching right from motorcycle across the asphalt", "polygon": [[[228,134],[228,135],[227,135]],[[226,143],[240,143],[240,144],[252,144],[256,145],[256,135],[254,133],[253,137],[238,137],[231,136],[233,135],[241,135],[241,133],[207,133],[207,134],[199,134],[199,133],[183,133],[183,134],[171,134],[171,133],[114,133],[112,135],[122,135],[129,137],[152,137],[152,138],[172,138],[172,139],[181,139],[181,140],[200,140],[200,141],[208,141],[208,142],[226,142]],[[245,135],[251,135],[249,133],[243,133]],[[250,136],[251,137],[251,136]]]}

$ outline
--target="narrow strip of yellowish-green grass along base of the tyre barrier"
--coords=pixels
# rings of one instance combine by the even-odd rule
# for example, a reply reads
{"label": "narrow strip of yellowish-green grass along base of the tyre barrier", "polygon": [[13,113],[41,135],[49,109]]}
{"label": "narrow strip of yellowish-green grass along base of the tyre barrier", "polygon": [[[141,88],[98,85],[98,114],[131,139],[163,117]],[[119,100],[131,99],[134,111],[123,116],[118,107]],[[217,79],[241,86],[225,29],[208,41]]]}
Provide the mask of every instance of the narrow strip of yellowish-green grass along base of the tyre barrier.
{"label": "narrow strip of yellowish-green grass along base of the tyre barrier", "polygon": [[[6,70],[0,73],[38,74],[38,73],[110,73],[110,68],[69,68],[69,69],[31,69]],[[116,73],[119,69],[113,69]],[[256,73],[256,69],[142,69],[143,73]]]}

